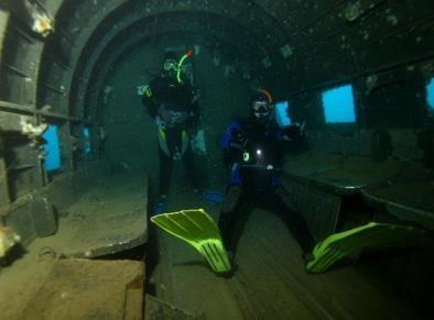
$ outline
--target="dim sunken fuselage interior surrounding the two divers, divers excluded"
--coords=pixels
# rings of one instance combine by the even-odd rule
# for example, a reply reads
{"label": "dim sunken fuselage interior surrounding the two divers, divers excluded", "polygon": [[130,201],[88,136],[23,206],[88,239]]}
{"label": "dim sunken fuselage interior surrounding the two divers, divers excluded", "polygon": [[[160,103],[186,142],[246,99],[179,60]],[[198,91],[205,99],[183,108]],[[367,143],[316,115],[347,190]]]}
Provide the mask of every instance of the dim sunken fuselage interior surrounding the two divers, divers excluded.
{"label": "dim sunken fuselage interior surrounding the two divers, divers excluded", "polygon": [[[228,183],[221,133],[267,88],[305,123],[283,184],[315,240],[377,222],[393,241],[312,274],[257,208],[225,278],[151,224],[140,88],[166,51],[193,53],[209,189]],[[220,205],[175,163],[167,208]],[[1,319],[432,319],[433,230],[434,1],[0,0]]]}

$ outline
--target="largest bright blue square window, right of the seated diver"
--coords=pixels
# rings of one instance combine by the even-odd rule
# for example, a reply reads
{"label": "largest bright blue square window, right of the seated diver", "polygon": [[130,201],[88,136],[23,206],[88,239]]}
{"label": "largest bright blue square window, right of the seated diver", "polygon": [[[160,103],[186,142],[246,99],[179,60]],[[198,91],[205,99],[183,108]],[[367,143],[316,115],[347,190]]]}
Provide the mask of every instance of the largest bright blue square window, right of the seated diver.
{"label": "largest bright blue square window, right of the seated diver", "polygon": [[326,123],[356,122],[352,86],[347,85],[324,91],[323,109]]}

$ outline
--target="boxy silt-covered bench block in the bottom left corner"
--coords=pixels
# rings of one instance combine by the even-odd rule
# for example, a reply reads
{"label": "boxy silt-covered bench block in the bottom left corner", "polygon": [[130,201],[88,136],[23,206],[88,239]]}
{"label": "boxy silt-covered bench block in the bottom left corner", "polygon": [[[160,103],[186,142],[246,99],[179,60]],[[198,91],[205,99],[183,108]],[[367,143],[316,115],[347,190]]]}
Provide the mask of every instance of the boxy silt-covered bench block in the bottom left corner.
{"label": "boxy silt-covered bench block in the bottom left corner", "polygon": [[[132,261],[37,262],[33,253],[0,276],[2,319],[127,319],[128,286],[144,266]],[[140,288],[138,288],[140,291]],[[135,293],[135,300],[139,300]],[[140,297],[142,300],[142,297]],[[142,304],[128,304],[139,310]],[[142,318],[128,318],[142,319]]]}

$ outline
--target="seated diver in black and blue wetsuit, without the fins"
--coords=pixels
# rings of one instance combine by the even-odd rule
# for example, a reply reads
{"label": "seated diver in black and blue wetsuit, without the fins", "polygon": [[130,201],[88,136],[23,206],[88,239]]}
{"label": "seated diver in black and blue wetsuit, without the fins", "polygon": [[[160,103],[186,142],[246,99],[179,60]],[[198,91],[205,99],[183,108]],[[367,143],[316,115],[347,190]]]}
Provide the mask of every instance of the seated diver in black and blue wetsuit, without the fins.
{"label": "seated diver in black and blue wetsuit, without the fins", "polygon": [[272,98],[259,90],[251,99],[251,117],[236,120],[225,131],[220,145],[230,168],[226,201],[218,225],[230,260],[234,260],[236,240],[234,225],[242,205],[267,202],[278,209],[308,260],[314,240],[302,216],[295,211],[291,197],[280,181],[284,144],[304,136],[303,126],[293,124],[281,129],[274,120]]}

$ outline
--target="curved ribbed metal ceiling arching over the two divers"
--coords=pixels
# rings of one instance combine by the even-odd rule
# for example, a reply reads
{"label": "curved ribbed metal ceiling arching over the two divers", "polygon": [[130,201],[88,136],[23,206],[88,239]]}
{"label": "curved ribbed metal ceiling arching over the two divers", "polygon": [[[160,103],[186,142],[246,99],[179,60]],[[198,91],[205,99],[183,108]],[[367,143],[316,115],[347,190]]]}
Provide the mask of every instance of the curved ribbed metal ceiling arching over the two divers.
{"label": "curved ribbed metal ceiling arching over the two divers", "polygon": [[[13,19],[4,26],[2,100],[48,104],[52,112],[78,119],[85,113],[80,79],[109,58],[104,47],[164,32],[202,34],[235,52],[253,52],[249,63],[263,81],[286,91],[433,56],[430,0],[22,0],[55,21],[47,37],[29,31],[25,8],[13,5],[20,1],[6,2]],[[134,27],[140,32],[131,33]]]}

